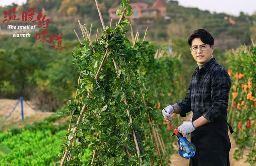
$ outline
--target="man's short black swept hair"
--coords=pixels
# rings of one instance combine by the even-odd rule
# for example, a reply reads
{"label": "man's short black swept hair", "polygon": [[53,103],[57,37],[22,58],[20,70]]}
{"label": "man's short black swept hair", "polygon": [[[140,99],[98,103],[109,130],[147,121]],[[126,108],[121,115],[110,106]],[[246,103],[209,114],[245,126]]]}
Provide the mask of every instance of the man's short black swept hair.
{"label": "man's short black swept hair", "polygon": [[194,38],[200,38],[203,43],[209,44],[210,46],[214,45],[214,38],[208,31],[204,29],[195,30],[194,33],[190,35],[190,37],[188,38],[188,44],[190,45],[190,47]]}

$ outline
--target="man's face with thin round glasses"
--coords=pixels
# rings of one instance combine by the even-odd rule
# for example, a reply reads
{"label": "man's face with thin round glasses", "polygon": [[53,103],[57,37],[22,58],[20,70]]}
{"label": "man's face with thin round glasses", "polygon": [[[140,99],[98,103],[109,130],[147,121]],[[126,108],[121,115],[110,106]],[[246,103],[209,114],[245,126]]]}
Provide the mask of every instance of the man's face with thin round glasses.
{"label": "man's face with thin round glasses", "polygon": [[[192,49],[196,50],[193,51]],[[201,49],[205,49],[202,51]],[[205,44],[202,42],[200,38],[194,38],[192,40],[192,45],[190,52],[193,55],[195,61],[197,61],[200,64],[203,64],[209,60],[209,58],[212,56],[212,52],[214,51],[214,46],[210,47],[209,44]]]}

